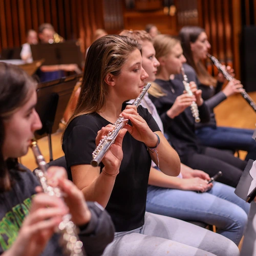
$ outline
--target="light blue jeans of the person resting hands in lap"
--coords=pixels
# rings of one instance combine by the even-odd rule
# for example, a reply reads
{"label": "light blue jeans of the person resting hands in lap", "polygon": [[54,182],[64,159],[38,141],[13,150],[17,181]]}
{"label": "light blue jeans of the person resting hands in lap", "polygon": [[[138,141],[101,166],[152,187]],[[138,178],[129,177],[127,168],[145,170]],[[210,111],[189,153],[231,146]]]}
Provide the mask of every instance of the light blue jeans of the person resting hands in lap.
{"label": "light blue jeans of the person resting hands in lap", "polygon": [[215,182],[206,193],[148,186],[146,211],[200,221],[217,227],[217,232],[239,244],[248,219],[250,204],[234,194],[234,188]]}

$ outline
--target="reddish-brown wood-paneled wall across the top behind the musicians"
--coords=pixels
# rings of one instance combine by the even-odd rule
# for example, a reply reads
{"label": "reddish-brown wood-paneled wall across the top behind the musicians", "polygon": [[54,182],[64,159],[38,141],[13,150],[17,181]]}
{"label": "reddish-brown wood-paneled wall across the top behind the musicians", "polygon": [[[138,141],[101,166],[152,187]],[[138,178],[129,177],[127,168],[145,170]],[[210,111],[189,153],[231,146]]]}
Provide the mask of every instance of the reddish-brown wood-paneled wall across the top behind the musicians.
{"label": "reddish-brown wood-paneled wall across the top behind the musicians", "polygon": [[118,33],[154,23],[161,33],[176,35],[182,26],[198,25],[206,30],[210,53],[240,78],[241,30],[255,26],[255,15],[256,0],[0,0],[0,52],[22,45],[26,32],[45,22],[65,39],[79,38],[83,52],[97,28]]}

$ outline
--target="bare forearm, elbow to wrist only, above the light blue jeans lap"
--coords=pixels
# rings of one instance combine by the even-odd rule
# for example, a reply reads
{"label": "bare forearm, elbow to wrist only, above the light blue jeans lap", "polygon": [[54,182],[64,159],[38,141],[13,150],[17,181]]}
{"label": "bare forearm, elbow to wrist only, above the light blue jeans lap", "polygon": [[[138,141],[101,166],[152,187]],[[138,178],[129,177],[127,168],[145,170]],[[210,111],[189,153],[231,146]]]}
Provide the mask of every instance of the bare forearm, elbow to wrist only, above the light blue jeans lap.
{"label": "bare forearm, elbow to wrist only, above the light blue jeans lap", "polygon": [[152,167],[150,169],[150,176],[148,178],[149,185],[180,189],[181,182],[182,182],[182,179],[178,177],[170,177]]}

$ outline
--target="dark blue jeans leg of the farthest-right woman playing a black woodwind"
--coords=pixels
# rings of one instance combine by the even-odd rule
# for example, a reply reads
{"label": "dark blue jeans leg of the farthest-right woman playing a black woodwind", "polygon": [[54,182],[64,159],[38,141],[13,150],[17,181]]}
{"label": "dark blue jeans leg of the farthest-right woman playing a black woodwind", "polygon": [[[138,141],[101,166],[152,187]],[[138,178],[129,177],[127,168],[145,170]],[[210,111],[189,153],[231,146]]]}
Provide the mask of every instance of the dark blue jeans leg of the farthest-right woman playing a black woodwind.
{"label": "dark blue jeans leg of the farthest-right woman playing a black woodwind", "polygon": [[233,151],[247,151],[245,160],[256,160],[256,141],[252,139],[252,134],[253,130],[222,126],[205,126],[196,130],[196,135],[202,145]]}

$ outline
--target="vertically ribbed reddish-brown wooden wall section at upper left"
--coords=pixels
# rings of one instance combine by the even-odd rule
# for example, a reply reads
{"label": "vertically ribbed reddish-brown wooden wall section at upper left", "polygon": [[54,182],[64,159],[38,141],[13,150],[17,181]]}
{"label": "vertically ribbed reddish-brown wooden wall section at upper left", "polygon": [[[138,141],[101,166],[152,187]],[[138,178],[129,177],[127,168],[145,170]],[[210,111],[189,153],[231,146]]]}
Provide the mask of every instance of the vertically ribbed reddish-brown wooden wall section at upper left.
{"label": "vertically ribbed reddish-brown wooden wall section at upper left", "polygon": [[[24,44],[29,29],[38,30],[42,23],[51,23],[65,39],[79,39],[87,49],[98,28],[105,28],[103,1],[94,0],[0,0],[0,53],[3,48]],[[122,23],[119,0],[115,15]],[[120,2],[121,3],[121,2]],[[108,6],[111,9],[111,6]],[[121,11],[120,11],[121,10]],[[118,13],[117,13],[118,12]],[[110,12],[112,15],[113,12]],[[120,19],[121,15],[121,19]],[[111,25],[112,26],[112,25]],[[116,26],[116,25],[115,25]],[[114,26],[114,27],[115,27]],[[122,26],[122,25],[121,25]]]}

